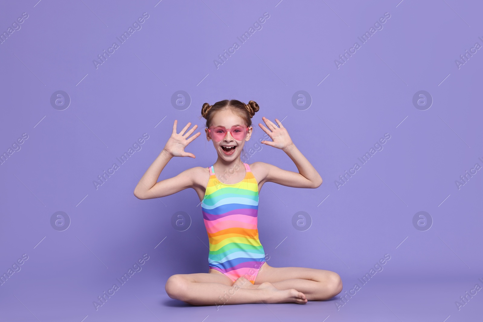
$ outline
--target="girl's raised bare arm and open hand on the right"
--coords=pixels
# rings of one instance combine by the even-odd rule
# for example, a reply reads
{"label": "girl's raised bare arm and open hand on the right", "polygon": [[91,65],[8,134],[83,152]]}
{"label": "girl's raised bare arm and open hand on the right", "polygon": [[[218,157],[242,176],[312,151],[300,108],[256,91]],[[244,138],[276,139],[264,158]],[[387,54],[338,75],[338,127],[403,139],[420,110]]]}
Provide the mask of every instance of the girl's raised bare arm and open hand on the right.
{"label": "girl's raised bare arm and open hand on the right", "polygon": [[293,171],[287,171],[268,163],[260,162],[264,173],[266,173],[266,182],[275,182],[289,187],[295,188],[317,188],[322,184],[322,177],[307,158],[298,150],[295,144],[288,136],[288,132],[285,127],[279,123],[280,127],[277,127],[269,119],[263,118],[265,124],[269,126],[270,130],[262,126],[259,126],[269,134],[272,142],[262,141],[262,143],[282,149],[295,163],[298,168],[298,173]]}

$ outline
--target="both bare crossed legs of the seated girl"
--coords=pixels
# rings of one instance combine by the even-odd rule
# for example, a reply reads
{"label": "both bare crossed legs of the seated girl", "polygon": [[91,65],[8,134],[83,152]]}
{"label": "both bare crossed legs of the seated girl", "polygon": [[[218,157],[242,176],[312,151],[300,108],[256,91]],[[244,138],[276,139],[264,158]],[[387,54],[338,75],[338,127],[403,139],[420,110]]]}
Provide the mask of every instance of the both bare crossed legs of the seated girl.
{"label": "both bare crossed legs of the seated girl", "polygon": [[210,273],[175,274],[166,282],[166,293],[191,305],[244,303],[298,303],[326,300],[342,290],[339,274],[305,267],[272,267],[258,271],[255,284],[244,277],[234,283],[214,269]]}

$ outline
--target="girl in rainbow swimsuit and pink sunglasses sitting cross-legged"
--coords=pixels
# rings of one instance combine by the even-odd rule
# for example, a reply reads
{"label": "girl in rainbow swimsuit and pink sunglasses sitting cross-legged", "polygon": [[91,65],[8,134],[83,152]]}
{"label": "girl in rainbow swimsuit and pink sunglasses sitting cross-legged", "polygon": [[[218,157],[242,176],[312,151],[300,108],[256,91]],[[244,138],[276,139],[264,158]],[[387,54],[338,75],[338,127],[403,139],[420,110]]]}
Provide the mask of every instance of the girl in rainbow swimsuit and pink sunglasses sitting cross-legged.
{"label": "girl in rainbow swimsuit and pink sunglasses sitting cross-legged", "polygon": [[209,272],[176,274],[166,282],[166,292],[174,299],[192,305],[242,303],[298,303],[325,300],[342,290],[340,276],[332,271],[303,267],[272,267],[265,262],[265,252],[258,239],[258,193],[265,182],[296,188],[317,188],[322,178],[298,151],[287,130],[263,117],[268,126],[258,125],[272,141],[261,141],[281,149],[294,161],[297,172],[268,163],[250,165],[240,159],[241,149],[252,136],[251,118],[259,110],[253,100],[222,100],[204,103],[201,115],[206,119],[206,140],[213,140],[218,154],[208,167],[189,168],[175,177],[156,182],[174,156],[190,156],[185,147],[201,132],[188,138],[197,128],[177,133],[174,121],[171,137],[134,189],[139,199],[172,195],[193,188],[201,201],[201,211],[208,232]]}

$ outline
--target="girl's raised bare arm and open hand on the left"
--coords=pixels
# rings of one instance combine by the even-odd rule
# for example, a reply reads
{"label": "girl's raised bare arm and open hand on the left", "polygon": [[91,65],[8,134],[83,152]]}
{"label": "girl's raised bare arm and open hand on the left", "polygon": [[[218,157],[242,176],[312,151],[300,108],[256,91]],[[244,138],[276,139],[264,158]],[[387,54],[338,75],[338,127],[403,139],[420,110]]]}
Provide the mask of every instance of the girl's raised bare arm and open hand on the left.
{"label": "girl's raised bare arm and open hand on the left", "polygon": [[192,153],[185,152],[185,147],[193,140],[195,140],[200,132],[193,135],[191,138],[187,139],[196,129],[197,125],[193,126],[191,130],[185,133],[186,129],[190,126],[189,122],[179,134],[176,133],[177,120],[174,121],[173,132],[171,137],[166,143],[164,149],[156,157],[156,160],[149,166],[141,180],[134,188],[134,196],[139,199],[152,199],[164,196],[170,196],[178,191],[193,186],[193,177],[199,167],[187,169],[175,177],[161,180],[156,182],[161,174],[161,171],[166,167],[168,162],[173,156],[190,156],[195,158]]}

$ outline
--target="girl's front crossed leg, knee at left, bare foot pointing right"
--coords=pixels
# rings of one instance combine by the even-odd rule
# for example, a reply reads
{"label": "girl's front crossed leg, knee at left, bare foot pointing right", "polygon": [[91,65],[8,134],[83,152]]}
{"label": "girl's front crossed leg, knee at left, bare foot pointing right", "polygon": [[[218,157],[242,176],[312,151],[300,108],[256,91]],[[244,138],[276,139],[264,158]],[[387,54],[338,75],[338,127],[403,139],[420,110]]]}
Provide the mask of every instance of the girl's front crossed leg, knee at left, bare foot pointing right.
{"label": "girl's front crossed leg, knee at left, bare foot pointing right", "polygon": [[[247,288],[246,283],[253,288]],[[280,290],[270,282],[253,285],[248,280],[237,280],[235,284],[227,276],[213,269],[210,273],[172,275],[166,281],[165,289],[170,298],[191,305],[307,303],[305,295],[295,289]]]}

